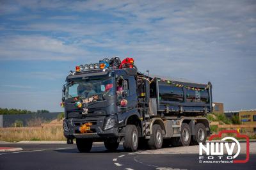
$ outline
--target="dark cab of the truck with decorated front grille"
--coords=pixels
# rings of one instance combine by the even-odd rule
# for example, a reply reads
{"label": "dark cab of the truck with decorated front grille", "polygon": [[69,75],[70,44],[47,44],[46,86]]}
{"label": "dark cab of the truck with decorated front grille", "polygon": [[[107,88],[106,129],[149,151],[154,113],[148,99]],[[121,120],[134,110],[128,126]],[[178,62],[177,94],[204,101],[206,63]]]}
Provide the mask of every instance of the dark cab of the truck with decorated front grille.
{"label": "dark cab of the truck with decorated front grille", "polygon": [[[132,115],[141,117],[135,74],[135,68],[126,68],[68,75],[67,83],[63,86],[63,128],[68,143],[76,139],[76,143],[81,142],[83,146],[88,143],[89,148],[93,141],[104,141],[106,147],[113,147],[110,146],[113,143],[118,146],[125,135],[127,118]],[[90,123],[90,126],[81,133],[86,123]],[[85,151],[83,147],[77,148]]]}

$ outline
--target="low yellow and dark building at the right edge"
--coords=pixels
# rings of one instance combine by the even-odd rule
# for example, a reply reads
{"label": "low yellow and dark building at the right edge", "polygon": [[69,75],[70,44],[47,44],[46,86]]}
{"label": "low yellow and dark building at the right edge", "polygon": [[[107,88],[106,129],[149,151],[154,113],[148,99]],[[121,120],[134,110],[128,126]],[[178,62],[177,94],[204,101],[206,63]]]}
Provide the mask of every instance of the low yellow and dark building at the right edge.
{"label": "low yellow and dark building at the right edge", "polygon": [[[228,118],[232,118],[232,116],[239,116],[239,120],[244,125],[256,125],[256,109],[246,111],[227,111],[225,112],[225,115]],[[256,133],[256,128],[252,128],[250,131]]]}

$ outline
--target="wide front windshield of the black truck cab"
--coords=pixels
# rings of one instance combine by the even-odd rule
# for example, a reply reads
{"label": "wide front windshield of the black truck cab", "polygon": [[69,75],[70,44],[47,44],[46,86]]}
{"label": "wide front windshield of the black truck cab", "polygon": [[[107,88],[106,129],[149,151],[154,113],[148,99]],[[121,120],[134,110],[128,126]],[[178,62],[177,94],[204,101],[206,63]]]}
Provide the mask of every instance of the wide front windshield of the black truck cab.
{"label": "wide front windshield of the black truck cab", "polygon": [[65,98],[114,95],[113,79],[102,76],[72,79],[67,82]]}

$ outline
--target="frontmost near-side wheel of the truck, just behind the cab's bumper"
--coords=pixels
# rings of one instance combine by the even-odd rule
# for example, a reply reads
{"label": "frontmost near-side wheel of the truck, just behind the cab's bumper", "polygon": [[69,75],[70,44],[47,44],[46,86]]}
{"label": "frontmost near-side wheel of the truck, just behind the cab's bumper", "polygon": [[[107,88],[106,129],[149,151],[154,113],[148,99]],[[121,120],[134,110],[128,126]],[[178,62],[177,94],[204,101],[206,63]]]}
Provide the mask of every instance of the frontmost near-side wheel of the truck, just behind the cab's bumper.
{"label": "frontmost near-side wheel of the truck, just behind the cab's bumper", "polygon": [[139,135],[136,126],[127,125],[125,127],[124,150],[136,151],[138,148]]}

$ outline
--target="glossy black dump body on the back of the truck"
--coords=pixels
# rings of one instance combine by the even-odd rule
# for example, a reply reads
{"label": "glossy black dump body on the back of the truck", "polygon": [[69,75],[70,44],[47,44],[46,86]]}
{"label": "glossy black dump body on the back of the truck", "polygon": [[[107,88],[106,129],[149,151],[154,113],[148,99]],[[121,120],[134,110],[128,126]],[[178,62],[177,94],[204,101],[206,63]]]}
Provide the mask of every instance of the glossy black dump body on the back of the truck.
{"label": "glossy black dump body on the back of the truck", "polygon": [[212,86],[191,82],[154,78],[150,83],[150,98],[156,98],[157,113],[206,114],[212,111]]}

